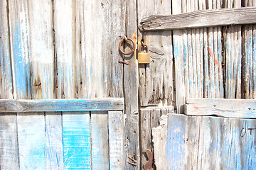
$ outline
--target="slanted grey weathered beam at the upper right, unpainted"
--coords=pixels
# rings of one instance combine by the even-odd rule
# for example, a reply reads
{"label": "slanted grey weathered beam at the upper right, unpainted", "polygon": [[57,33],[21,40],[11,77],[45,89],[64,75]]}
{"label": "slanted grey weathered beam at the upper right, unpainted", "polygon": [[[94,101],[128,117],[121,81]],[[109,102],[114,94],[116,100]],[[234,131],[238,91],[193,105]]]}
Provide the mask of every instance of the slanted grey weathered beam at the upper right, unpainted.
{"label": "slanted grey weathered beam at the upper right, unpainted", "polygon": [[142,19],[142,31],[203,28],[256,23],[256,7],[222,8]]}

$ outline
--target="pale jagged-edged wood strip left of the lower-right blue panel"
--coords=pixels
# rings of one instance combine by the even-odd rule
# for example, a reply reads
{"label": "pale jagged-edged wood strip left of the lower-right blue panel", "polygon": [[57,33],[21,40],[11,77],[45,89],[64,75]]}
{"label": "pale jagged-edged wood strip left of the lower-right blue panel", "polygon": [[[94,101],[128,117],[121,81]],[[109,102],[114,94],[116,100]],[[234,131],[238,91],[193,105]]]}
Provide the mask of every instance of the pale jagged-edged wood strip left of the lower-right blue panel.
{"label": "pale jagged-edged wood strip left of the lower-right blue panel", "polygon": [[154,142],[154,164],[157,169],[166,169],[167,115],[161,115],[160,125],[152,128]]}

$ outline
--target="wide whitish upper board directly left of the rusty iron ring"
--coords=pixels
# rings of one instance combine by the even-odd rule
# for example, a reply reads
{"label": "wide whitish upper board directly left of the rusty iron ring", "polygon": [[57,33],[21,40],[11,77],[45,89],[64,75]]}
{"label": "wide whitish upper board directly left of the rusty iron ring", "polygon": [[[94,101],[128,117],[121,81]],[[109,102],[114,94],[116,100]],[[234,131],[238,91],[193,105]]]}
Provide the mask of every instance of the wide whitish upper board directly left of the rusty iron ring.
{"label": "wide whitish upper board directly left of the rusty iron ring", "polygon": [[125,34],[124,6],[122,1],[76,1],[76,98],[124,96],[123,66],[118,63],[122,60],[118,44]]}

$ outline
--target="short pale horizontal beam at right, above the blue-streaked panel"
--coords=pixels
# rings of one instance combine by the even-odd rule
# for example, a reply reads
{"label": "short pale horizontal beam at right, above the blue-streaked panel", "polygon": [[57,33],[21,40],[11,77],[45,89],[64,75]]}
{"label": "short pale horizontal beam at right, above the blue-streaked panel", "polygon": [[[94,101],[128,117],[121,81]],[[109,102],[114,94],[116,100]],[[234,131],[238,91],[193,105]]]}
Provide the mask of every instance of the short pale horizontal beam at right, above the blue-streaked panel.
{"label": "short pale horizontal beam at right, above the blue-streaked panel", "polygon": [[256,118],[256,100],[187,98],[186,115],[217,115],[226,118]]}

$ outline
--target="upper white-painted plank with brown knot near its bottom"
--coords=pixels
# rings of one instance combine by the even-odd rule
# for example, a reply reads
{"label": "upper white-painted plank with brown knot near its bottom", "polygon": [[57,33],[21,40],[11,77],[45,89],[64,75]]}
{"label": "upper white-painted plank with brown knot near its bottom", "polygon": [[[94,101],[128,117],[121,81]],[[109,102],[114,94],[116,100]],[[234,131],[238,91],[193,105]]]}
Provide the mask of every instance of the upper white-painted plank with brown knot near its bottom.
{"label": "upper white-painted plank with brown knot near its bottom", "polygon": [[[53,98],[52,1],[28,1],[32,98]],[[43,70],[43,72],[42,72]]]}

